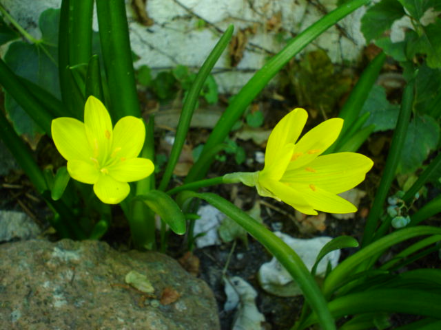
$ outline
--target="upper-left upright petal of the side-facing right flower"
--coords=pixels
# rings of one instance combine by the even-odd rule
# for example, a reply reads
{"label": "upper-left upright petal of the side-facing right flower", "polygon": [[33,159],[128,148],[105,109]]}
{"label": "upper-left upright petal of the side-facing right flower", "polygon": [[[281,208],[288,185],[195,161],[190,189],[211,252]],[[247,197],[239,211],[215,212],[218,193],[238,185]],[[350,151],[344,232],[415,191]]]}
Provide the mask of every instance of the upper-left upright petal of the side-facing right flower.
{"label": "upper-left upright petal of the side-facing right flower", "polygon": [[283,147],[288,143],[296,143],[305,126],[308,113],[301,108],[296,108],[283,117],[269,135],[265,150],[265,166],[272,166],[278,162]]}

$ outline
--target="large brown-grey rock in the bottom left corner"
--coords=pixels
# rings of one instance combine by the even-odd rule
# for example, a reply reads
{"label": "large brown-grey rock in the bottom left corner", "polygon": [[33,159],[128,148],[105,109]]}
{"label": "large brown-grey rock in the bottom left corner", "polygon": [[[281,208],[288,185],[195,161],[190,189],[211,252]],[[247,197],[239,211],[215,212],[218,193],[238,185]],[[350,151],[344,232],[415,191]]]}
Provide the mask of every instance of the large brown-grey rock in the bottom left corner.
{"label": "large brown-grey rock in the bottom left corner", "polygon": [[[220,329],[207,284],[164,254],[30,240],[0,245],[0,260],[0,329]],[[131,271],[154,293],[125,284]],[[167,290],[176,300],[161,305]]]}

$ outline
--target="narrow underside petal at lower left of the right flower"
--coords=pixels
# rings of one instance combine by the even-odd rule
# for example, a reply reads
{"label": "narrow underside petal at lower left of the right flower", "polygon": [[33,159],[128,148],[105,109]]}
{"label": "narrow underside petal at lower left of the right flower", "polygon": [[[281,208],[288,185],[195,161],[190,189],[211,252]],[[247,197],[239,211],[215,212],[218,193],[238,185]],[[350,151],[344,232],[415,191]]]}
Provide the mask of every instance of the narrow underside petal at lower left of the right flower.
{"label": "narrow underside petal at lower left of the right flower", "polygon": [[[296,189],[291,188],[287,184],[283,184],[279,181],[266,180],[264,182],[260,182],[261,186],[271,192],[275,199],[281,199],[285,203],[289,204],[296,210],[299,210],[305,214],[316,215],[317,212],[314,208],[309,205],[309,202],[302,195],[301,192],[298,192]],[[271,196],[272,197],[272,196]]]}

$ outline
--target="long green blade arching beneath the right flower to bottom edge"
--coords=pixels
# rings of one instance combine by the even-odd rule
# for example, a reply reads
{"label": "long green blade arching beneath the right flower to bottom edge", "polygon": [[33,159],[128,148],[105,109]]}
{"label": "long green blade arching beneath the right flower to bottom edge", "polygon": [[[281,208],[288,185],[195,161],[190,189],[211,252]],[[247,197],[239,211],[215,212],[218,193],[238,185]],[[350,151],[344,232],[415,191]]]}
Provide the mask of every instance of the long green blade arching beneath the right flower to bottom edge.
{"label": "long green blade arching beneath the right flower to bottom edge", "polygon": [[332,318],[329,309],[327,308],[327,302],[320,292],[314,277],[311,276],[309,270],[298,254],[289,248],[284,241],[265,228],[264,225],[258,223],[248,214],[243,212],[243,210],[240,210],[240,208],[218,195],[209,192],[199,194],[187,190],[181,192],[181,197],[183,197],[183,199],[190,199],[193,197],[204,199],[247,230],[249,234],[254,236],[255,239],[263,244],[265,248],[276,257],[298,283],[300,289],[302,289],[302,292],[305,295],[305,299],[311,305],[311,308],[316,311],[318,322],[320,322],[322,329],[336,329],[334,318]]}

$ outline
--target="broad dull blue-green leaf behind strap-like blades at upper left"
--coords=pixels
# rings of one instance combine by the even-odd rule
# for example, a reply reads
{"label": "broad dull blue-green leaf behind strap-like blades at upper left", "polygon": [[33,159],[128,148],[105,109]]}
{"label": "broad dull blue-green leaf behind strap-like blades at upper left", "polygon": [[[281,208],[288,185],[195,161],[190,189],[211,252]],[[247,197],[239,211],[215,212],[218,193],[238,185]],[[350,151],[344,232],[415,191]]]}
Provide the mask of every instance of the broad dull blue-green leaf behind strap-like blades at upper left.
{"label": "broad dull blue-green leaf behind strap-like blades at upper left", "polygon": [[[57,68],[59,10],[48,9],[41,13],[39,27],[42,38],[37,44],[23,41],[12,43],[5,55],[5,62],[12,72],[50,91],[59,98],[59,76]],[[26,135],[30,144],[38,141],[43,130],[30,118],[23,108],[6,93],[6,112],[19,135]]]}

